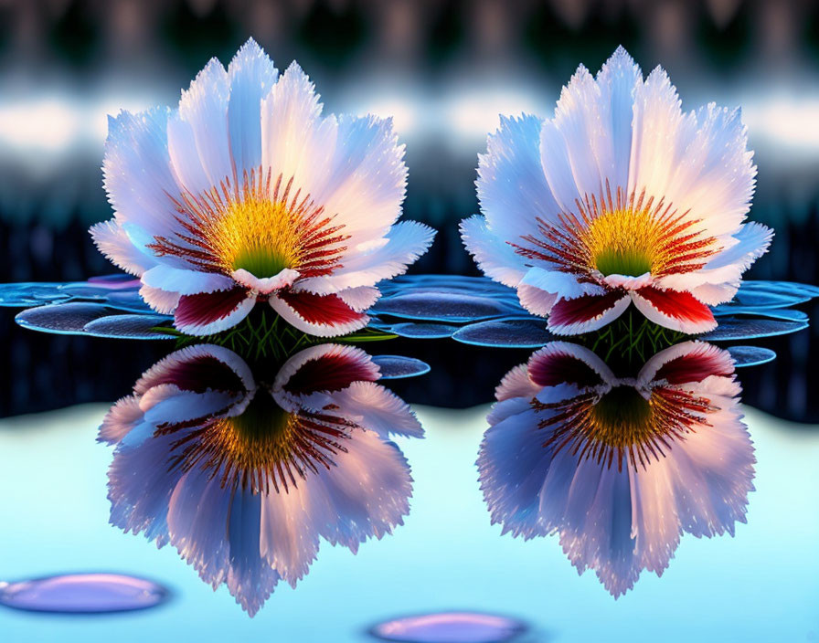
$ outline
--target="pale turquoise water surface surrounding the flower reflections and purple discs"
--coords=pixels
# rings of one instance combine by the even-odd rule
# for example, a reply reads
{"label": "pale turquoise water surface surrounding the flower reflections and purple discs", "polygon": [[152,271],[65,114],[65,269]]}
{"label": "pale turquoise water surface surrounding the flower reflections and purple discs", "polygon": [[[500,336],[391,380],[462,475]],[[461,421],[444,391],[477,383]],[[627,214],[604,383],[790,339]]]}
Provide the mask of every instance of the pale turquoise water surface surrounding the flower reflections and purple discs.
{"label": "pale turquoise water surface surrounding the flower reflections and purple discs", "polygon": [[735,538],[689,535],[662,578],[644,573],[615,601],[578,576],[556,538],[523,542],[490,526],[473,466],[485,407],[419,407],[427,439],[399,440],[415,493],[406,524],[353,555],[323,544],[297,589],[280,585],[250,619],[176,550],[108,525],[94,442],[107,406],[0,422],[0,578],[137,574],[167,585],[165,606],[107,616],[0,609],[5,641],[366,641],[390,617],[449,609],[523,619],[520,640],[809,641],[819,639],[819,427],[748,409],[757,491]]}

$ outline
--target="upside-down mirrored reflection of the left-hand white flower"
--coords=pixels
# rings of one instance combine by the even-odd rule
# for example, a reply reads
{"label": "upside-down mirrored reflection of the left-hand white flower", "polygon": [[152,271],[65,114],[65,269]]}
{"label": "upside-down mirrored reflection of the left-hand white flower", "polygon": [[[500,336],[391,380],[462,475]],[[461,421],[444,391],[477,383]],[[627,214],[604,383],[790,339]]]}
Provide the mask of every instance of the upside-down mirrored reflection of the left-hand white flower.
{"label": "upside-down mirrored reflection of the left-hand white flower", "polygon": [[409,512],[410,468],[388,437],[423,431],[379,376],[337,344],[269,374],[216,345],[172,353],[103,421],[112,524],[173,544],[252,616],[307,573],[320,537],[355,553]]}

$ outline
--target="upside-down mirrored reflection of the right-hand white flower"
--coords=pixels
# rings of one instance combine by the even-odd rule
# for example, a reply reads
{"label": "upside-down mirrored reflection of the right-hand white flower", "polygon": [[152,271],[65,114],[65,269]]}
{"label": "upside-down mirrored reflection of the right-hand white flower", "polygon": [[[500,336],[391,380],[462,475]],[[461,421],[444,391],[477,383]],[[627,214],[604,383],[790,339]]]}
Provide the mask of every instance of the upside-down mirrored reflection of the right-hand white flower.
{"label": "upside-down mirrored reflection of the right-hand white flower", "polygon": [[493,522],[525,539],[558,533],[579,573],[613,596],[660,575],[680,535],[745,522],[753,447],[729,353],[677,344],[623,378],[555,342],[497,387],[478,457]]}

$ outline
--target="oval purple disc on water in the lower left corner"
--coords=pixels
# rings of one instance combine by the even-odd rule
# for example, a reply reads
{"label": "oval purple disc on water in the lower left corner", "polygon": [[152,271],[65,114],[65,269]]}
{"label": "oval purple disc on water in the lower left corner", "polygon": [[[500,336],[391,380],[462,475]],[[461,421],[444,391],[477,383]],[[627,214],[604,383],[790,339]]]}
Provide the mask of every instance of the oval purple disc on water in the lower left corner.
{"label": "oval purple disc on water in the lower left corner", "polygon": [[0,583],[0,605],[31,612],[101,614],[159,606],[168,592],[125,574],[60,574]]}

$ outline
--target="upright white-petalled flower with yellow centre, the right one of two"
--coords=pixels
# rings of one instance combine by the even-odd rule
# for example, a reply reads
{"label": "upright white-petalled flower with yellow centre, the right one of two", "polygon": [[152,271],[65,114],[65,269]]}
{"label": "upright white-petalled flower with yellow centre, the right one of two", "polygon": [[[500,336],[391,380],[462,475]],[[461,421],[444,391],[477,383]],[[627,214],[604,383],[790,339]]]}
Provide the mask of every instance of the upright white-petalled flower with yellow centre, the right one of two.
{"label": "upright white-petalled flower with yellow centre, the right one of two", "polygon": [[733,297],[771,241],[743,224],[746,138],[739,110],[683,113],[665,71],[644,79],[620,47],[596,79],[580,66],[553,119],[502,119],[480,156],[484,216],[463,221],[463,242],[552,332],[600,329],[630,303],[707,332],[708,306]]}

